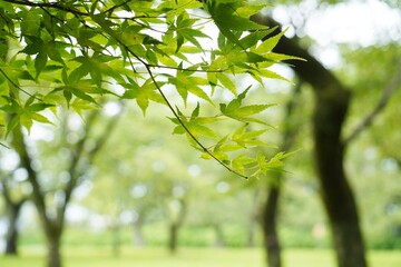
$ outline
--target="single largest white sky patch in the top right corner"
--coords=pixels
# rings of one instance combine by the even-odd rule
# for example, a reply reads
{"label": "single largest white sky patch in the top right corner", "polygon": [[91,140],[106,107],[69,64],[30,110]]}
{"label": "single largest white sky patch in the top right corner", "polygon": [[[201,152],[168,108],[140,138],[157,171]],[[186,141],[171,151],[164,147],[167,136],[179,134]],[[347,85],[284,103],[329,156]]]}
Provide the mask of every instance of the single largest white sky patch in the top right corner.
{"label": "single largest white sky patch in the top right corner", "polygon": [[[379,0],[340,3],[309,18],[307,33],[320,44],[401,40],[401,10],[390,9]],[[322,38],[324,37],[324,38]]]}

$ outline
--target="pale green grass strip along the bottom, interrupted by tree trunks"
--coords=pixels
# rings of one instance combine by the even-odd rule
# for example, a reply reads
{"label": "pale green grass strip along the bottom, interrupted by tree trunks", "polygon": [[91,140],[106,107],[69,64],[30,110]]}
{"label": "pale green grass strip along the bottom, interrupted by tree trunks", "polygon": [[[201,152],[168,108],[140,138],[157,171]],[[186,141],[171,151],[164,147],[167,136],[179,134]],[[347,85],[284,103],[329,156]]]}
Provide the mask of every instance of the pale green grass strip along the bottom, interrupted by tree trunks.
{"label": "pale green grass strip along the bottom, interrupted by tree trunks", "polygon": [[[74,247],[63,251],[65,267],[264,267],[262,249],[182,248],[175,256],[163,248],[125,247],[120,257],[111,249]],[[371,267],[400,267],[400,251],[371,251]],[[286,267],[334,267],[333,254],[320,249],[290,249],[284,253]],[[23,247],[20,257],[0,257],[1,267],[43,267],[45,249]]]}

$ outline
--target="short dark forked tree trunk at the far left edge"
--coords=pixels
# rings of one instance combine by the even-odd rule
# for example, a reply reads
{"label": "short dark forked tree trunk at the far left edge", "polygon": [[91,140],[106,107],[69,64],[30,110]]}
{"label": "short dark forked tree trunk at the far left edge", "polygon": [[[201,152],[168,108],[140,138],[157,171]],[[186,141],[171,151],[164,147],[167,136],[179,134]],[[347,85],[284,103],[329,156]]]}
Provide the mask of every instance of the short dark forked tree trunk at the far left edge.
{"label": "short dark forked tree trunk at the far left edge", "polygon": [[8,228],[6,235],[6,255],[18,255],[18,217],[25,200],[16,204],[7,201]]}

